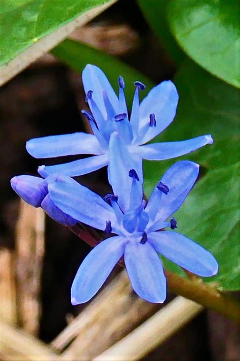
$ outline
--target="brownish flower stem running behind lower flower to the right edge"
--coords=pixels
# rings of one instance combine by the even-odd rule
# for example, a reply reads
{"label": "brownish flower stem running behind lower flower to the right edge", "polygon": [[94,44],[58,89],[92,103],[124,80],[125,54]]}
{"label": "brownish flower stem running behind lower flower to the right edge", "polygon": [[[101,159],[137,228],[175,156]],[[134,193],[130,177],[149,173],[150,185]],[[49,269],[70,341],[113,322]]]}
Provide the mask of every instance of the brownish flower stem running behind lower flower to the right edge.
{"label": "brownish flower stem running behind lower flower to the right edge", "polygon": [[[101,240],[97,232],[89,226],[81,224],[69,228],[77,237],[92,247],[95,247]],[[123,259],[121,259],[118,264],[125,267]],[[186,279],[166,270],[165,275],[167,277],[168,287],[174,293],[211,308],[234,321],[240,322],[240,303],[226,296],[226,294],[219,292],[214,286],[204,283],[201,278]]]}

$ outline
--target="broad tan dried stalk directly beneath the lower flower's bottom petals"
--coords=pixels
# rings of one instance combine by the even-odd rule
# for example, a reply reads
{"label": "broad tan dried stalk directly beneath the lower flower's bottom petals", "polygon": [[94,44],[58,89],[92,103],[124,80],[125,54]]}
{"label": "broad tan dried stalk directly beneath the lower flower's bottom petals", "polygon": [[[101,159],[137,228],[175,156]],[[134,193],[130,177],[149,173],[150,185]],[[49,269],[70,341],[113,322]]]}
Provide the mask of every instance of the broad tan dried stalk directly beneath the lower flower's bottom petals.
{"label": "broad tan dried stalk directly beneath the lower flower's bottom petals", "polygon": [[131,332],[159,305],[148,303],[133,292],[123,270],[87,308],[52,342],[66,360],[90,360]]}

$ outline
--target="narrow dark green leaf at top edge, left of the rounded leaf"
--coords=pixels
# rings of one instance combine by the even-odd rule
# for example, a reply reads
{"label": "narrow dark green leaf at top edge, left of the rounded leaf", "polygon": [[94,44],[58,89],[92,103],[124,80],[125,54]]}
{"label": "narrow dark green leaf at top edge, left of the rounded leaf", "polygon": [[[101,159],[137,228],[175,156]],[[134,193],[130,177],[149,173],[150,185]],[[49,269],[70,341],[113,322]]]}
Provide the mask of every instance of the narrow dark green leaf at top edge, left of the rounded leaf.
{"label": "narrow dark green leaf at top edge, left of the rounded leaf", "polygon": [[137,0],[137,3],[161,44],[166,48],[172,59],[177,64],[180,64],[185,59],[185,55],[169,30],[166,16],[168,3],[166,0]]}

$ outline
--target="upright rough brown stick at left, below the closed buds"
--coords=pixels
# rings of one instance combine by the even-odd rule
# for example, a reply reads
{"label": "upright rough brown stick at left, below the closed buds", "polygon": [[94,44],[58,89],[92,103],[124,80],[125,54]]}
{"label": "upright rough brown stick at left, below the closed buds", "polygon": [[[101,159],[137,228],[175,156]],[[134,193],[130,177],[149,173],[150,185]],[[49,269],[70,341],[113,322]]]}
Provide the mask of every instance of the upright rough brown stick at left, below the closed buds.
{"label": "upright rough brown stick at left, below the closed buds", "polygon": [[39,301],[44,256],[44,220],[42,208],[21,201],[16,225],[16,261],[18,316],[29,333],[38,332],[41,304]]}

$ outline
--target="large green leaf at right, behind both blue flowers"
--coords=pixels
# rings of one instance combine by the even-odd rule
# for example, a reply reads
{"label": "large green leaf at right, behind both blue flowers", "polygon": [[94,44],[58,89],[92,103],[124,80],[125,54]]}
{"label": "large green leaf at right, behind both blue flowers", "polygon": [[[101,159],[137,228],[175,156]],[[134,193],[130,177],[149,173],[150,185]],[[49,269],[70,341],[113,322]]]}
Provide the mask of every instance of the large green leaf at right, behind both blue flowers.
{"label": "large green leaf at right, behind both blue flowers", "polygon": [[[178,112],[169,128],[156,141],[183,140],[211,134],[215,140],[180,159],[198,162],[202,176],[175,217],[179,233],[211,251],[219,273],[206,278],[222,290],[240,288],[239,266],[239,91],[187,61],[175,84],[180,94]],[[145,161],[145,193],[150,195],[167,168],[174,163]],[[164,260],[166,268],[182,270]]]}

